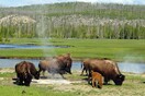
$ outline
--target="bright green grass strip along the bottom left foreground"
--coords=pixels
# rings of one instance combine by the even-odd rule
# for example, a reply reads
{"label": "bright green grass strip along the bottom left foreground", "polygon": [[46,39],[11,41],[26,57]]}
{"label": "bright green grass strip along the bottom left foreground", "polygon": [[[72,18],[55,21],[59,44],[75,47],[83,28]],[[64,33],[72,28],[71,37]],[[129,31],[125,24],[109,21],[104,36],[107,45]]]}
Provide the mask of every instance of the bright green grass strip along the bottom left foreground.
{"label": "bright green grass strip along the bottom left foreground", "polygon": [[[2,96],[74,96],[76,93],[70,92],[54,92],[49,87],[25,87],[25,86],[0,86]],[[8,92],[9,91],[9,92]]]}

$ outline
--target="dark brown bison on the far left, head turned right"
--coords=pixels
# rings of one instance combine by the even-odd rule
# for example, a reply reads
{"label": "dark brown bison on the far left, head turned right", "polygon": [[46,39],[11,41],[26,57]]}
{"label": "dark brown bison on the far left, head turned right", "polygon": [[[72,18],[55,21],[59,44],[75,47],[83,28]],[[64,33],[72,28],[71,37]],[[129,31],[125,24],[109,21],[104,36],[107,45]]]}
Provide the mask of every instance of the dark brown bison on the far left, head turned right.
{"label": "dark brown bison on the far left, head turned right", "polygon": [[22,61],[15,64],[15,72],[18,76],[18,82],[20,85],[30,86],[33,76],[38,80],[40,72],[36,71],[35,65],[32,62]]}

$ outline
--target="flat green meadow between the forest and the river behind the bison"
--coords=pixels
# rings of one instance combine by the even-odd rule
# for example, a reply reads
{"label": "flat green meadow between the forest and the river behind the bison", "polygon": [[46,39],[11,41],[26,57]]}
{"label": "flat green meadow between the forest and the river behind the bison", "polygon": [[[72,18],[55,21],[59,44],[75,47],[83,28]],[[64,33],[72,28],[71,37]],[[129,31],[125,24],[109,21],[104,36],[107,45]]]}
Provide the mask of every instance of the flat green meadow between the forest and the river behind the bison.
{"label": "flat green meadow between the forest and the river behind the bison", "polygon": [[11,39],[10,44],[70,46],[54,49],[1,49],[0,57],[51,57],[70,52],[74,59],[110,58],[145,62],[145,39]]}

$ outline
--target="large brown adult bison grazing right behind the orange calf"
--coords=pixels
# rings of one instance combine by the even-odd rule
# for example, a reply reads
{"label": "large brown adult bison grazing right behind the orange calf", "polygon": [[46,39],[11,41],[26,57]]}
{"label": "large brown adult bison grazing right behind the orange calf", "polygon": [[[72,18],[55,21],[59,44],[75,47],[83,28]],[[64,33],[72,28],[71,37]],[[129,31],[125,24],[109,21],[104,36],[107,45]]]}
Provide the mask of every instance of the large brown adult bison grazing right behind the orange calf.
{"label": "large brown adult bison grazing right behind the orange calf", "polygon": [[[88,64],[89,62],[89,64]],[[99,72],[104,77],[104,84],[108,84],[110,80],[113,80],[115,85],[122,85],[125,80],[125,75],[121,74],[116,62],[108,59],[90,59],[87,64],[89,70],[88,77],[91,76],[91,70]],[[89,81],[88,81],[89,82]]]}

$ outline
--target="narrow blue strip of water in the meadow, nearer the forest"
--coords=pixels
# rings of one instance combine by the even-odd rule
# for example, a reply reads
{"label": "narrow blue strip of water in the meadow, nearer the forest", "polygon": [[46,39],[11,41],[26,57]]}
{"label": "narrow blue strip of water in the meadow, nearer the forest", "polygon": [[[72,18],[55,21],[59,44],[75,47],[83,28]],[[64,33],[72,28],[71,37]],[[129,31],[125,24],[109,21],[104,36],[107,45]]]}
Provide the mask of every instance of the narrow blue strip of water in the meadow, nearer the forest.
{"label": "narrow blue strip of water in the meadow, nearer the forest", "polygon": [[48,45],[48,46],[38,46],[38,45],[13,45],[13,44],[0,44],[0,49],[44,49],[44,48],[67,48],[68,46],[53,46],[53,45]]}

